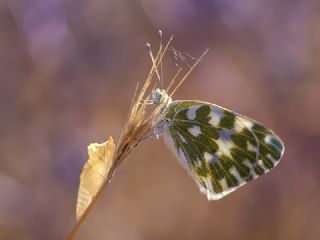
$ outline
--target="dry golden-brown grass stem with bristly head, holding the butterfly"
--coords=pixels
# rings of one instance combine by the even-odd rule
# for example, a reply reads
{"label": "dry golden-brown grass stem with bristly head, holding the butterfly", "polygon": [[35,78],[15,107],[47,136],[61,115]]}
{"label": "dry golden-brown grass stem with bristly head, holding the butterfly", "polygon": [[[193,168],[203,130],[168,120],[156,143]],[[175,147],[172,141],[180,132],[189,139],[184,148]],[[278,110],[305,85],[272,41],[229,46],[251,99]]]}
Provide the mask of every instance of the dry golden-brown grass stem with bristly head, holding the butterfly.
{"label": "dry golden-brown grass stem with bristly head, holding the butterfly", "polygon": [[[121,133],[119,142],[117,144],[117,148],[115,151],[114,159],[112,160],[112,165],[110,167],[110,170],[107,174],[106,181],[100,189],[98,190],[96,196],[92,199],[92,202],[86,209],[86,211],[83,213],[83,215],[80,217],[80,219],[77,221],[76,225],[72,229],[68,240],[74,239],[76,236],[80,226],[87,218],[88,214],[96,204],[98,198],[101,196],[103,190],[105,187],[110,183],[116,168],[122,163],[122,161],[130,154],[130,152],[146,137],[150,132],[153,131],[154,127],[156,126],[157,122],[161,118],[161,109],[165,106],[166,103],[162,103],[159,106],[157,106],[150,114],[147,114],[147,101],[150,99],[150,93],[146,96],[147,90],[150,88],[150,85],[152,83],[154,74],[157,72],[157,69],[159,65],[162,62],[162,59],[172,41],[172,37],[167,42],[166,46],[164,48],[160,48],[154,61],[152,64],[152,67],[150,69],[150,72],[148,74],[148,77],[146,78],[144,85],[142,86],[142,89],[136,98],[134,95],[133,103],[131,105],[129,116],[126,121],[124,130]],[[183,78],[180,80],[178,85],[175,87],[175,89],[172,91],[170,96],[173,95],[173,93],[180,87],[180,85],[184,82],[184,80],[189,76],[189,74],[192,72],[192,70],[195,68],[195,66],[201,61],[201,59],[204,57],[204,55],[207,53],[208,50],[206,50],[200,58],[195,62],[195,64],[188,70],[188,72],[183,76]],[[181,72],[181,69],[179,69],[176,73],[176,75],[173,77],[169,88],[173,85],[174,80],[177,78],[179,73]],[[153,87],[154,88],[154,87]]]}

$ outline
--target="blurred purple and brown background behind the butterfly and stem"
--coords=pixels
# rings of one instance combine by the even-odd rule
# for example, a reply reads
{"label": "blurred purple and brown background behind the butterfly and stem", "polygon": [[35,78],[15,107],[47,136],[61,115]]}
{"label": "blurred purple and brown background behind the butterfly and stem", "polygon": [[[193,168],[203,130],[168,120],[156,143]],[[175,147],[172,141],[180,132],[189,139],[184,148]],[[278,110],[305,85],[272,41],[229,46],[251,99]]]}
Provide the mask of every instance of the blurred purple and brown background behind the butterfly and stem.
{"label": "blurred purple and brown background behind the butterfly and stem", "polygon": [[193,56],[210,48],[176,98],[263,122],[285,155],[208,202],[146,141],[77,239],[320,239],[319,23],[317,0],[0,1],[0,239],[66,239],[86,147],[118,139],[158,29]]}

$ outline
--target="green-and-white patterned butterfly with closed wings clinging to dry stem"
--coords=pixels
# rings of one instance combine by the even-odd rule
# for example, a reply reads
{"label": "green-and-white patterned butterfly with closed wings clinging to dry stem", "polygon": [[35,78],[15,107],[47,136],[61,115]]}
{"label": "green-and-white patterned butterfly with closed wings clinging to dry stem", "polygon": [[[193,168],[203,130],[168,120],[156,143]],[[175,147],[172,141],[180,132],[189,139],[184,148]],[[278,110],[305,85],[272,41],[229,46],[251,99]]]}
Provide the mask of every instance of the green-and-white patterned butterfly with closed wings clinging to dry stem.
{"label": "green-and-white patterned butterfly with closed wings clinging to dry stem", "polygon": [[197,183],[208,200],[218,200],[266,174],[278,163],[284,143],[270,129],[218,105],[172,101],[165,90],[152,93],[162,104],[154,133]]}

